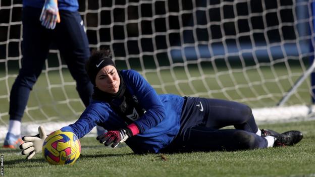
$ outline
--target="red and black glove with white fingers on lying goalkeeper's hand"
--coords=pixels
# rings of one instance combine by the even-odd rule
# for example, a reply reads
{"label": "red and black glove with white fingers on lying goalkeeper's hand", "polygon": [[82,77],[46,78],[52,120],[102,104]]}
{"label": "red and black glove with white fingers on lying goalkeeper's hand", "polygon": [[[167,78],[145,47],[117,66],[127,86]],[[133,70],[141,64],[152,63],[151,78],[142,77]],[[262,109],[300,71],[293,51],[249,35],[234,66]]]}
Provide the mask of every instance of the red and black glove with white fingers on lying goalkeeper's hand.
{"label": "red and black glove with white fingers on lying goalkeeper's hand", "polygon": [[99,143],[104,143],[105,146],[109,146],[113,143],[112,147],[115,148],[119,143],[126,141],[128,138],[138,133],[138,127],[135,124],[130,124],[124,129],[108,131],[98,136],[96,139],[99,140]]}

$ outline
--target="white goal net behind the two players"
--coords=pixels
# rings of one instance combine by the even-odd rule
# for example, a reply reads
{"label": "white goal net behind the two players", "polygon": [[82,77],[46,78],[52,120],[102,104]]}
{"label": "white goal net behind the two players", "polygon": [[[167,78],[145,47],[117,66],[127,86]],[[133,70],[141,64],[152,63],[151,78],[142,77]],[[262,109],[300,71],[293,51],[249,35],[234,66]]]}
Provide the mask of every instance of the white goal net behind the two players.
{"label": "white goal net behind the two players", "polygon": [[[90,48],[110,48],[120,69],[138,71],[158,93],[242,102],[253,108],[258,122],[301,120],[312,112],[312,1],[79,4]],[[10,89],[21,67],[22,4],[0,0],[0,5],[0,132],[5,136]],[[23,126],[36,132],[45,124],[54,130],[74,122],[83,110],[67,65],[52,48]]]}

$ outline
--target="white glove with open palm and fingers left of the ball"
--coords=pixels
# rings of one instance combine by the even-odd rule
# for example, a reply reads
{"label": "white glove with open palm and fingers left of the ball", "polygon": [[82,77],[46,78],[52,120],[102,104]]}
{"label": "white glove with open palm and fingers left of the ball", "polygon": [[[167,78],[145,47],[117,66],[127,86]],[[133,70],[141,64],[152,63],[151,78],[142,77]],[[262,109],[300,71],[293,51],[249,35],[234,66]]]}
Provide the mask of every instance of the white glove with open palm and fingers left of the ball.
{"label": "white glove with open palm and fingers left of the ball", "polygon": [[22,155],[27,155],[26,159],[31,159],[36,153],[41,152],[43,142],[47,135],[42,126],[38,127],[38,134],[35,136],[24,136],[22,140],[25,142],[20,145]]}

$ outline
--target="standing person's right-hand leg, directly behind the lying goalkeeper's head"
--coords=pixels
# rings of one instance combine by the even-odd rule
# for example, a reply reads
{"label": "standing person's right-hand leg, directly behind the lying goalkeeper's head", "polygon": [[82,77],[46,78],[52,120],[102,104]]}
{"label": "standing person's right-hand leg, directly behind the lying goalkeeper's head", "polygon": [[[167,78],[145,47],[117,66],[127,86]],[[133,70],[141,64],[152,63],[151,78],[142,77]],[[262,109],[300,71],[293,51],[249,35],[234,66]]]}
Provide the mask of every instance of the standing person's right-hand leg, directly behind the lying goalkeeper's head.
{"label": "standing person's right-hand leg, directly behind the lying goalkeeper's head", "polygon": [[60,11],[61,22],[56,26],[56,42],[71,76],[77,83],[77,91],[85,106],[93,93],[93,85],[85,71],[90,56],[88,39],[79,12]]}

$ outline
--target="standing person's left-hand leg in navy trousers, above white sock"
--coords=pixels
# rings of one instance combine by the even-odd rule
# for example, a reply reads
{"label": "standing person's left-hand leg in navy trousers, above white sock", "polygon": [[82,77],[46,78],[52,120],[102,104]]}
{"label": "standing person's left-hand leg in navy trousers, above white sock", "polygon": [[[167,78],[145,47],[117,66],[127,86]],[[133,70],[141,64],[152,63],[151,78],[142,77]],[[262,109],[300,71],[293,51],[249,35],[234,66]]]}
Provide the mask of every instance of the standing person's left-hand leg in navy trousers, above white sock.
{"label": "standing person's left-hand leg in navy trousers, above white sock", "polygon": [[47,58],[51,32],[41,26],[41,9],[23,8],[22,68],[10,94],[10,120],[20,121],[27,105],[30,91],[40,75]]}

